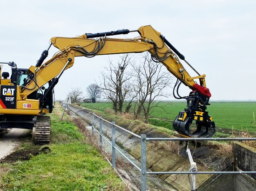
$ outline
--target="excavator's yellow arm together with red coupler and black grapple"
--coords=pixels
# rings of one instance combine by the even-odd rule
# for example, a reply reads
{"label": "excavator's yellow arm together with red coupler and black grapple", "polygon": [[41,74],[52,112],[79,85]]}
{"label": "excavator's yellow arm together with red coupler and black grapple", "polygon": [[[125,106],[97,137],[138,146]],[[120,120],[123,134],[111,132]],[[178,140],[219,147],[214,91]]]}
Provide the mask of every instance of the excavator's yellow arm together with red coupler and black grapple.
{"label": "excavator's yellow arm together with red coupler and black grapple", "polygon": [[[128,34],[129,32],[138,32],[140,36],[137,38],[108,38],[108,36]],[[124,29],[88,33],[76,38],[54,37],[51,38],[51,43],[60,51],[44,64],[40,60],[36,66],[30,67],[28,73],[34,78],[29,79],[27,84],[22,87],[23,94],[28,96],[51,80],[55,82],[52,85],[54,87],[63,71],[73,66],[74,57],[148,51],[154,61],[161,62],[180,83],[192,89],[189,96],[185,97],[188,103],[187,108],[180,111],[173,122],[174,129],[179,134],[189,137],[212,137],[215,134],[215,124],[212,117],[206,112],[206,105],[209,105],[211,94],[206,87],[205,75],[200,75],[195,71],[198,76],[190,76],[178,58],[180,57],[186,62],[185,57],[151,25],[141,26],[136,31]],[[44,52],[44,55],[46,54],[47,52]],[[192,68],[192,66],[190,67]],[[195,80],[198,80],[199,83]],[[193,132],[189,129],[192,121],[196,121],[196,130]]]}

